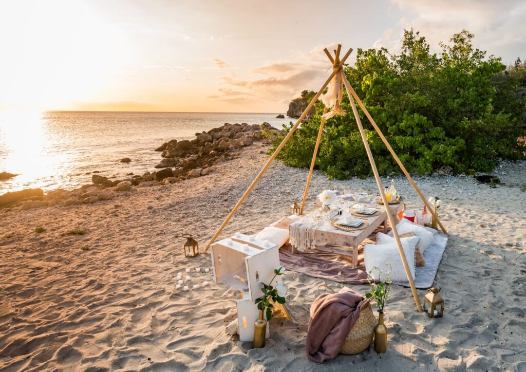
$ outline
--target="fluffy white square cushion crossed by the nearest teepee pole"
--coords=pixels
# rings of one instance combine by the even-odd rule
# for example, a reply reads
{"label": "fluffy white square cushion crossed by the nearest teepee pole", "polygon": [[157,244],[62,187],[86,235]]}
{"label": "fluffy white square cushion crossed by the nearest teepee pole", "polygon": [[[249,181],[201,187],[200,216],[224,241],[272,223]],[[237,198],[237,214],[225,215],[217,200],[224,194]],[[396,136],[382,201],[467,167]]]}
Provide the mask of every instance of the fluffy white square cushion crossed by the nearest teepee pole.
{"label": "fluffy white square cushion crossed by the nearest teepee pole", "polygon": [[[406,255],[409,272],[414,280],[414,249],[418,244],[418,237],[400,239],[403,253]],[[365,267],[373,279],[385,279],[385,273],[389,271],[391,264],[391,279],[393,281],[407,281],[406,270],[403,267],[402,258],[398,252],[395,241],[384,244],[366,244],[363,247],[363,258]],[[377,267],[382,271],[383,276],[379,278]]]}

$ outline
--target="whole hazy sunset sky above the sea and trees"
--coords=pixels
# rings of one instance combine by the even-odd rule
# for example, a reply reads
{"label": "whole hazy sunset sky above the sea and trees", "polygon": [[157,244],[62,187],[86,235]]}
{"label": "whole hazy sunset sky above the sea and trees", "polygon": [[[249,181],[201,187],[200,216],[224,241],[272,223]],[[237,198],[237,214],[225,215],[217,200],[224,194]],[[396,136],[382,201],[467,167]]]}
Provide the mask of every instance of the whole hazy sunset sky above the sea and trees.
{"label": "whole hazy sunset sky above the sea and trees", "polygon": [[284,113],[325,46],[396,52],[414,27],[438,51],[466,28],[509,64],[525,19],[523,1],[1,1],[0,108]]}

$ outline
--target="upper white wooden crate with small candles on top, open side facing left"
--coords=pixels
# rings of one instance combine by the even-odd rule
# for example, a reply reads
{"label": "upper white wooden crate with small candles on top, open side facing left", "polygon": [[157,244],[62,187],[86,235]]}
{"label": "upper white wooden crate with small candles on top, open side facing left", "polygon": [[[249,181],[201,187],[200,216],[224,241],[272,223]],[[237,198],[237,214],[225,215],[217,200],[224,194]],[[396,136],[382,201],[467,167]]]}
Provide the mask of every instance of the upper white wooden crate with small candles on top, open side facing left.
{"label": "upper white wooden crate with small candles on top, open side facing left", "polygon": [[[243,299],[261,297],[261,283],[270,284],[274,269],[279,265],[279,247],[276,244],[252,240],[247,235],[222,239],[210,246],[214,281],[240,290]],[[272,286],[281,283],[278,275]]]}

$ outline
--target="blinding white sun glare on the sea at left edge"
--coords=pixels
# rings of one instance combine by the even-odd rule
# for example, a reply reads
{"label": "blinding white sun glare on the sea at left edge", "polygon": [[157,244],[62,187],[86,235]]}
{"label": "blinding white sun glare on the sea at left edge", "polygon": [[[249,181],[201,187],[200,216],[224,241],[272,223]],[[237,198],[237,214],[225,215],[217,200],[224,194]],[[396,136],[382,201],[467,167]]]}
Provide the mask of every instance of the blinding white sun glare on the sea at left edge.
{"label": "blinding white sun glare on the sea at left edge", "polygon": [[[40,112],[0,111],[0,172],[18,174],[18,185],[61,186],[60,178],[54,176],[69,162],[69,157],[54,151],[57,138],[49,134],[46,125]],[[0,194],[12,190],[9,180],[0,187]]]}

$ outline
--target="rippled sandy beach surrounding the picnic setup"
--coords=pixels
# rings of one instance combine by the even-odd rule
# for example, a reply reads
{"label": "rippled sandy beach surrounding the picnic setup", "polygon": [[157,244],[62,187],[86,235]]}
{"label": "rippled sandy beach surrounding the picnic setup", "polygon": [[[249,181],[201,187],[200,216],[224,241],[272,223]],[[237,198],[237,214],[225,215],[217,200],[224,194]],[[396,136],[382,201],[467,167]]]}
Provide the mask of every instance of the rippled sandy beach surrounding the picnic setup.
{"label": "rippled sandy beach surrounding the picnic setup", "polygon": [[[209,176],[106,202],[1,210],[0,236],[13,236],[0,238],[0,369],[526,370],[526,193],[471,177],[416,177],[424,194],[443,199],[451,234],[437,275],[444,318],[417,313],[411,291],[394,286],[387,353],[371,346],[319,366],[305,356],[308,310],[320,283],[338,284],[288,272],[295,321],[272,319],[263,349],[228,336],[236,291],[216,286],[211,272],[196,273],[195,267],[211,267],[208,255],[185,259],[184,240],[174,236],[195,233],[206,245],[265,163],[260,149],[250,146]],[[507,184],[525,184],[526,163],[505,164],[498,174]],[[306,176],[306,169],[273,165],[224,236],[254,233],[286,215]],[[315,174],[308,205],[335,185],[376,188],[372,178],[335,182]],[[407,180],[397,185],[411,207],[421,207]],[[36,233],[36,226],[47,231]],[[77,228],[86,235],[61,235]],[[176,289],[185,268],[192,269],[190,288],[212,283]]]}

